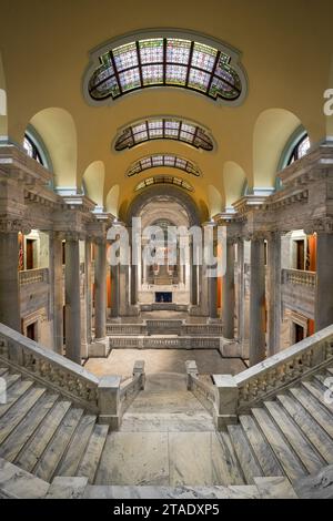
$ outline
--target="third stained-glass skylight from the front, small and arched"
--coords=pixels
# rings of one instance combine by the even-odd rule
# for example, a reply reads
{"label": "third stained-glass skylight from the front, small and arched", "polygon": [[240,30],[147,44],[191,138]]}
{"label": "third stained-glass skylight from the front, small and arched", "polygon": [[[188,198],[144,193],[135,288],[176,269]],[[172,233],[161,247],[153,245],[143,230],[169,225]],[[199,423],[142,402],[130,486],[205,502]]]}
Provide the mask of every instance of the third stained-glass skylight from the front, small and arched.
{"label": "third stained-glass skylight from the front, small and arched", "polygon": [[192,161],[179,157],[178,155],[173,154],[154,154],[142,157],[141,160],[133,163],[128,171],[128,176],[132,177],[133,175],[138,175],[145,170],[163,166],[169,168],[179,168],[186,172],[188,174],[195,175],[196,177],[201,174],[199,167],[192,163]]}

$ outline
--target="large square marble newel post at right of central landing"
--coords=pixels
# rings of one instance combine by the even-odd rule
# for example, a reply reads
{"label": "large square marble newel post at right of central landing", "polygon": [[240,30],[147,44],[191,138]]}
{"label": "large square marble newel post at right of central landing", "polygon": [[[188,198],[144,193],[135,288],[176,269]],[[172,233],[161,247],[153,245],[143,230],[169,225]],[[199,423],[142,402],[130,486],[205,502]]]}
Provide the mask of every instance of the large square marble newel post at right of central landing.
{"label": "large square marble newel post at right of central landing", "polygon": [[215,426],[222,430],[223,426],[238,422],[239,387],[231,375],[213,375],[216,388]]}

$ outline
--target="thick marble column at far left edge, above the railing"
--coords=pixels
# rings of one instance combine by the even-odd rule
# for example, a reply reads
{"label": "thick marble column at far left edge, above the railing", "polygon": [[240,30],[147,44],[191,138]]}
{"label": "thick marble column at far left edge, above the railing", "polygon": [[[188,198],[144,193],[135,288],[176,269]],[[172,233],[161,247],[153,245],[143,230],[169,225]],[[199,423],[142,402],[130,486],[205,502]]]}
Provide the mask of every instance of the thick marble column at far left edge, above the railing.
{"label": "thick marble column at far left edge, above the railing", "polygon": [[0,323],[21,331],[18,232],[0,232]]}

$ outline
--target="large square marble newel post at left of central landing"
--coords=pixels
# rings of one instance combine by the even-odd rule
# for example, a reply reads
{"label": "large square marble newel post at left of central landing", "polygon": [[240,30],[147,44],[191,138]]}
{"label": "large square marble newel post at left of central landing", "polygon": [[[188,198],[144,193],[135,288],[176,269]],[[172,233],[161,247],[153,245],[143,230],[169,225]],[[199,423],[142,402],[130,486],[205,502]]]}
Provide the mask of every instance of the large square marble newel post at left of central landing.
{"label": "large square marble newel post at left of central landing", "polygon": [[120,376],[104,376],[98,387],[99,423],[120,427]]}

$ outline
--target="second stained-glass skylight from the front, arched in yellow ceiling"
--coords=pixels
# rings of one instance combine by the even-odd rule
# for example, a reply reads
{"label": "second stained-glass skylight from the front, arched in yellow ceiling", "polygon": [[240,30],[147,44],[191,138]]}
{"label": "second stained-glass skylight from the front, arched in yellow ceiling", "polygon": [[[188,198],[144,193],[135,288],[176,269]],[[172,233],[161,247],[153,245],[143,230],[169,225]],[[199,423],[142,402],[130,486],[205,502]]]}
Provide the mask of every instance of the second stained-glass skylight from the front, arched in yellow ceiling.
{"label": "second stained-glass skylight from the front, arched in yellow ceiling", "polygon": [[132,149],[151,140],[174,140],[195,149],[212,151],[214,145],[208,132],[201,126],[176,118],[150,118],[127,126],[117,137],[114,149]]}

